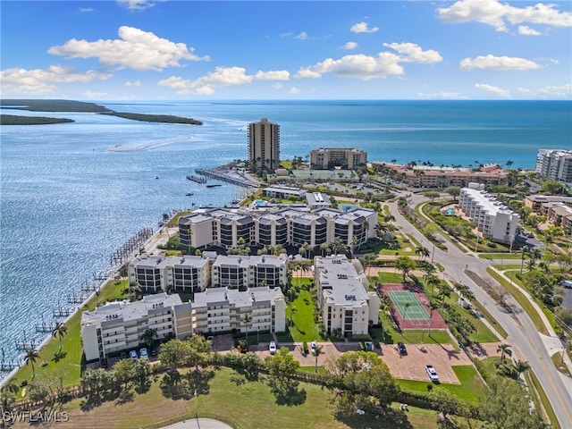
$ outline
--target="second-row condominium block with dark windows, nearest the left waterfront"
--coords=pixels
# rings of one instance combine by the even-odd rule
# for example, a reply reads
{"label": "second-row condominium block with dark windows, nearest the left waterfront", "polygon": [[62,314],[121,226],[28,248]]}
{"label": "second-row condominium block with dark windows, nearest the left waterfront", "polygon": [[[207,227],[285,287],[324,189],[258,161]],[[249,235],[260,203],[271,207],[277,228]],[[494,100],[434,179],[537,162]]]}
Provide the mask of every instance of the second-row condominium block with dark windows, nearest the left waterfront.
{"label": "second-row condominium block with dark windows, nearest the left waterfront", "polygon": [[211,267],[204,257],[136,257],[128,268],[129,283],[143,292],[201,291],[210,284]]}

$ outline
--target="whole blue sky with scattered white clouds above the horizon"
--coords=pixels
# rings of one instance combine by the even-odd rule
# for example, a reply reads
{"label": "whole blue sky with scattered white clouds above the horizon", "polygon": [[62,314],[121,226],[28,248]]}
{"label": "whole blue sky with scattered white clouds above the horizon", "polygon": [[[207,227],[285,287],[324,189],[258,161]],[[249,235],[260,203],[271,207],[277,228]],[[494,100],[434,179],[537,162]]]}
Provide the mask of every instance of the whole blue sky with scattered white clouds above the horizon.
{"label": "whole blue sky with scattered white clouds above the horizon", "polygon": [[2,1],[2,97],[571,99],[572,2]]}

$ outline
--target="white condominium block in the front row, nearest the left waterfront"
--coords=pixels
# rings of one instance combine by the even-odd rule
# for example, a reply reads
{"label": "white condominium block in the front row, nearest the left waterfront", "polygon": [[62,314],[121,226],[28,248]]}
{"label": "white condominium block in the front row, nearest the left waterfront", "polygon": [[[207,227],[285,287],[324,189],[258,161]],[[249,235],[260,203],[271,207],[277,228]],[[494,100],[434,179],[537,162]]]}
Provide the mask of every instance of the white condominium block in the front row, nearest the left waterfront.
{"label": "white condominium block in the front row, nearest the left waterfront", "polygon": [[81,314],[81,342],[86,360],[145,347],[144,334],[155,329],[157,340],[192,334],[191,305],[179,295],[160,293],[136,301],[118,301]]}

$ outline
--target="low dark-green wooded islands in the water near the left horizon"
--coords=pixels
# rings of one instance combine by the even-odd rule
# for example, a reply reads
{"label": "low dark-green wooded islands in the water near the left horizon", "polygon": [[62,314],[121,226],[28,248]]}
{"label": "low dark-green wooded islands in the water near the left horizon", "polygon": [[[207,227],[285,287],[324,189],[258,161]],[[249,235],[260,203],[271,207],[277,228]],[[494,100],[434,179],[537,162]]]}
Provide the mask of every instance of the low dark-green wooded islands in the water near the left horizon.
{"label": "low dark-green wooded islands in the water near the left horizon", "polygon": [[[103,105],[94,103],[85,103],[74,100],[28,100],[28,99],[1,99],[0,106],[3,109],[27,110],[29,112],[62,112],[62,113],[93,113],[93,114],[109,114],[124,119],[142,122],[158,122],[158,123],[183,123],[189,125],[202,125],[203,122],[192,118],[173,116],[171,114],[132,114],[114,112]],[[52,118],[38,116],[20,116],[12,114],[1,114],[0,123],[2,125],[40,125],[74,122],[68,118]]]}

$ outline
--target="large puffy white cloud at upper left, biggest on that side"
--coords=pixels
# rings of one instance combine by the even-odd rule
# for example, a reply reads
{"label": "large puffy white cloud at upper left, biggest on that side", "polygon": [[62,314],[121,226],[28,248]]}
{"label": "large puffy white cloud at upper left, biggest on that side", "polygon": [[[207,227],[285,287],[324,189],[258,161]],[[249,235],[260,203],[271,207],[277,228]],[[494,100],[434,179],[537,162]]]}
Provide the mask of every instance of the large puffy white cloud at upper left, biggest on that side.
{"label": "large puffy white cloud at upper left, biggest on that side", "polygon": [[181,60],[209,61],[208,56],[193,54],[194,48],[159,38],[154,33],[122,26],[119,39],[99,39],[95,42],[72,38],[62,46],[52,46],[48,54],[69,58],[98,58],[106,65],[118,65],[138,71],[163,71],[166,67],[181,67]]}

